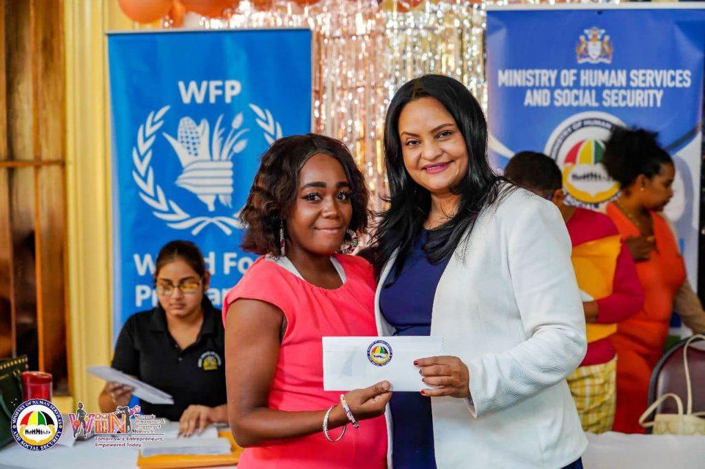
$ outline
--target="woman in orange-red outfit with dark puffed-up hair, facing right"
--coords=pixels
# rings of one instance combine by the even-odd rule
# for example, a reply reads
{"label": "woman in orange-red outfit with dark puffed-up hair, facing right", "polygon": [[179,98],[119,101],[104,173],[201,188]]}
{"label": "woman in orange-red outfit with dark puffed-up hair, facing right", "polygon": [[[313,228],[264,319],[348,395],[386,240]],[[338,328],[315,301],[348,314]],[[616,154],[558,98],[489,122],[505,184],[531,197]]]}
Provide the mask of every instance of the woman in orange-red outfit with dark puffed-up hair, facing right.
{"label": "woman in orange-red outfit with dark puffed-up hair, facing right", "polygon": [[661,211],[673,196],[675,165],[646,130],[618,128],[606,144],[603,163],[619,182],[619,198],[607,206],[637,266],[644,290],[641,311],[619,323],[611,337],[617,351],[617,409],[613,429],[644,433],[639,417],[648,404],[649,380],[673,314],[694,332],[705,330],[705,313],[685,278],[685,264]]}

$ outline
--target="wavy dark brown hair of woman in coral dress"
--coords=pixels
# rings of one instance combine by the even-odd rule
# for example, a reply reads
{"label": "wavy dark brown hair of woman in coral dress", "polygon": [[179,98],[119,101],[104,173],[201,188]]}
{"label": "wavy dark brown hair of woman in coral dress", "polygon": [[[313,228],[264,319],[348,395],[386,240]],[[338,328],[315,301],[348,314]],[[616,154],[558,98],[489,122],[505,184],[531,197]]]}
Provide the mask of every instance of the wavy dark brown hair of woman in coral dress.
{"label": "wavy dark brown hair of woman in coral dress", "polygon": [[[242,248],[254,254],[279,254],[279,227],[293,210],[299,187],[299,170],[315,154],[335,158],[343,166],[350,184],[353,217],[349,228],[362,233],[367,230],[369,194],[360,168],[348,148],[324,135],[293,135],[278,139],[262,155],[255,182],[240,219],[247,229]],[[346,239],[348,235],[345,235]]]}

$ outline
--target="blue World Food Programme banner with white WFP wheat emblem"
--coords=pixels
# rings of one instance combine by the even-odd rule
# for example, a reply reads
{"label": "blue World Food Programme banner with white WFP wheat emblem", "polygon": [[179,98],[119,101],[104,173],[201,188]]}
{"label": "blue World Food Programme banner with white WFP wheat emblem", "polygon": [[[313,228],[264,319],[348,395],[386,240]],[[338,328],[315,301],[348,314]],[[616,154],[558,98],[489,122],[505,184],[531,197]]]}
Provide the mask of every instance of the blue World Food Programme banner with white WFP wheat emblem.
{"label": "blue World Food Programme banner with white WFP wheat emblem", "polygon": [[311,129],[311,33],[116,33],[108,46],[116,337],[156,304],[166,242],[200,246],[216,306],[255,261],[238,212],[269,144]]}

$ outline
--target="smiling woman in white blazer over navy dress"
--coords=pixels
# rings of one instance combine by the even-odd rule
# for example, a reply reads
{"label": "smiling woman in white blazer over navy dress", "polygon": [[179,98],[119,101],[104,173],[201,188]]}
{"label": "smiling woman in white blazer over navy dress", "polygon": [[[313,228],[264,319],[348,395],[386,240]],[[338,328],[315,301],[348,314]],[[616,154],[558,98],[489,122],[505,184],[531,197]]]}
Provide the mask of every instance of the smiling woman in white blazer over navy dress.
{"label": "smiling woman in white blazer over navy dress", "polygon": [[403,85],[385,126],[378,332],[443,337],[415,362],[427,389],[391,399],[390,467],[582,468],[565,377],[587,344],[558,209],[494,174],[482,109],[450,77]]}

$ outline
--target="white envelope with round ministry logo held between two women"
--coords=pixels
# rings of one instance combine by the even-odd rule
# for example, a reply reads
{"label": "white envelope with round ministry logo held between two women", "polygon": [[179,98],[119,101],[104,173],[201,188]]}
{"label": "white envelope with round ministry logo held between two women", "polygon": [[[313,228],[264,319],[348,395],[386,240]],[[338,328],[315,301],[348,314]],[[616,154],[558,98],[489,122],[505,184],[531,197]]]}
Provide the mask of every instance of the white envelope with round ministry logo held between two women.
{"label": "white envelope with round ministry logo held between two women", "polygon": [[443,337],[324,337],[323,389],[350,391],[384,380],[392,391],[429,389],[414,361],[442,350]]}

